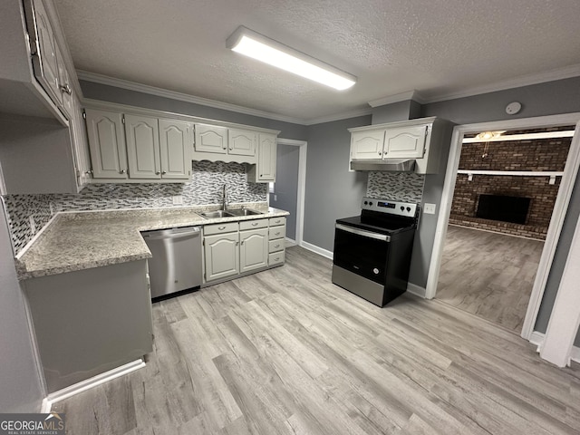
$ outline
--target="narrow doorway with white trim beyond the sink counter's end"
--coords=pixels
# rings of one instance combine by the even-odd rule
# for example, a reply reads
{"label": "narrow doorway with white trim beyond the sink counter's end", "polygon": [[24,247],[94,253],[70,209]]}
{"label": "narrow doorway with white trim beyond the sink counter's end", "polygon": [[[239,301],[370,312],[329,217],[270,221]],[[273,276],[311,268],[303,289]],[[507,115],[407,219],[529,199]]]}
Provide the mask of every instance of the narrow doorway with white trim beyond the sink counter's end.
{"label": "narrow doorway with white trim beyond the sink counter's end", "polygon": [[290,213],[286,217],[286,246],[302,246],[306,146],[303,140],[276,140],[276,175],[268,199],[271,207]]}

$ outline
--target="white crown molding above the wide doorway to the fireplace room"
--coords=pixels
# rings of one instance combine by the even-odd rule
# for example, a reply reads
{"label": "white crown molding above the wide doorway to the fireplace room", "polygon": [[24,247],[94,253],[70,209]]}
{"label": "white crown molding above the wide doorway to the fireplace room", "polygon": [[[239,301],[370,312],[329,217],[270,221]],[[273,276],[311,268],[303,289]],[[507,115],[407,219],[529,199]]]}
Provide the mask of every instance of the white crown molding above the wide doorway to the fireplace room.
{"label": "white crown molding above the wide doorway to the fireplace room", "polygon": [[546,73],[522,75],[513,79],[495,82],[485,86],[477,86],[459,92],[433,95],[429,98],[425,98],[424,102],[421,102],[421,104],[428,104],[430,102],[446,102],[458,98],[473,97],[482,93],[506,91],[507,89],[521,88],[532,84],[555,82],[556,80],[570,79],[578,76],[580,76],[580,63],[551,70]]}

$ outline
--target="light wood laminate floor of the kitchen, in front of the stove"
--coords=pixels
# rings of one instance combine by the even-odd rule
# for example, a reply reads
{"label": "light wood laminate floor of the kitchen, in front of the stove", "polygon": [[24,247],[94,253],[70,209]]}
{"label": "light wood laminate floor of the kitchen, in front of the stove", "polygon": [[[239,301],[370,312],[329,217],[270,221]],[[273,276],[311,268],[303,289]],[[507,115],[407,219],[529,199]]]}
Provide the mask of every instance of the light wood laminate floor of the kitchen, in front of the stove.
{"label": "light wood laminate floor of the kitchen, in front of the stove", "polygon": [[287,264],[153,305],[147,367],[53,406],[67,433],[577,434],[580,369],[403,295],[384,308]]}

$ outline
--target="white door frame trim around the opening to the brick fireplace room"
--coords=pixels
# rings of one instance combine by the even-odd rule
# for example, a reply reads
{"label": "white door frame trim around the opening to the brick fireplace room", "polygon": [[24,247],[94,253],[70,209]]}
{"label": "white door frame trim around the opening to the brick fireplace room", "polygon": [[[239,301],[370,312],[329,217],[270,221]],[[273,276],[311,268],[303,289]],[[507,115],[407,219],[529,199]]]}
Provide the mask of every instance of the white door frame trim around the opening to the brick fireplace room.
{"label": "white door frame trim around the opening to the brick fireplace room", "polygon": [[449,214],[451,211],[453,191],[455,190],[455,181],[457,179],[459,168],[459,156],[461,154],[463,136],[471,132],[525,130],[565,124],[575,124],[575,135],[572,139],[568,157],[566,159],[564,175],[562,176],[560,189],[558,189],[554,212],[546,235],[545,247],[542,251],[542,256],[536,273],[536,280],[534,282],[532,294],[530,295],[529,304],[527,305],[526,318],[521,331],[521,336],[523,338],[527,340],[530,339],[531,334],[534,332],[534,326],[542,302],[542,296],[544,295],[546,288],[548,274],[554,260],[557,242],[564,225],[566,211],[572,196],[572,189],[574,189],[575,179],[578,173],[578,168],[580,167],[580,112],[522,118],[517,120],[464,124],[458,125],[453,129],[449,149],[449,160],[441,195],[440,217],[437,222],[433,252],[430,259],[429,275],[427,278],[425,293],[426,298],[433,298],[437,292],[441,256],[443,253],[445,237],[447,235],[447,226],[449,225]]}

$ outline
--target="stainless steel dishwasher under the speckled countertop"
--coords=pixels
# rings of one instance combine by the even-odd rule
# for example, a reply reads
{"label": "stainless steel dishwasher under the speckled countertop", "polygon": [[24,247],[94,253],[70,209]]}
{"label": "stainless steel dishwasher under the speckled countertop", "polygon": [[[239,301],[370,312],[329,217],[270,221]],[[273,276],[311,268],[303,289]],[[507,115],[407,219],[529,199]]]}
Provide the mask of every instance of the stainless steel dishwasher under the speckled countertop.
{"label": "stainless steel dishwasher under the speckled countertop", "polygon": [[141,235],[153,256],[148,260],[153,300],[201,285],[201,227],[143,231]]}

